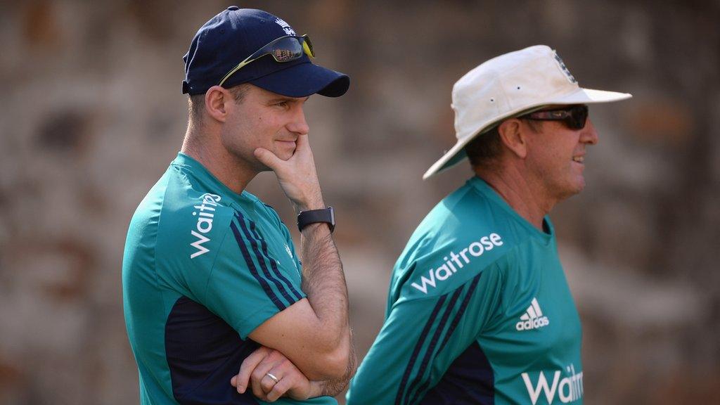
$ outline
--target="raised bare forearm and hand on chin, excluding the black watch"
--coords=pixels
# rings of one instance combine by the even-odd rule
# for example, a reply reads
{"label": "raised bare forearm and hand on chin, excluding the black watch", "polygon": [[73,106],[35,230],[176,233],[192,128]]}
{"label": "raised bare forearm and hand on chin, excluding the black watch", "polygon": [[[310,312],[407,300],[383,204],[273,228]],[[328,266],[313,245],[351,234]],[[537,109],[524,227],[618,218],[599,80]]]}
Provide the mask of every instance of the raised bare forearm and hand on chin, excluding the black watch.
{"label": "raised bare forearm and hand on chin, excluding the black watch", "polygon": [[[298,135],[295,151],[287,160],[264,148],[254,153],[275,172],[296,213],[325,208],[307,134]],[[249,336],[283,352],[312,380],[338,378],[346,372],[351,352],[348,292],[327,224],[312,223],[302,230],[300,259],[307,299],[277,313]]]}

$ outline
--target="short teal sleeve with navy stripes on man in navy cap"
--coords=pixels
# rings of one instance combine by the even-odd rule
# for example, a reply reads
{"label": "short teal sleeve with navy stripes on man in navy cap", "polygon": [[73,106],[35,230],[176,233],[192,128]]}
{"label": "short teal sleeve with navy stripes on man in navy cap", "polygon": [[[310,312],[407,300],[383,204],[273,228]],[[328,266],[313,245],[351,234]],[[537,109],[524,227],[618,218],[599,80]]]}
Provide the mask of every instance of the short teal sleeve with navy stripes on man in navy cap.
{"label": "short teal sleeve with navy stripes on man in navy cap", "polygon": [[212,265],[204,304],[246,339],[303,297],[294,261],[269,249],[256,223],[236,215]]}

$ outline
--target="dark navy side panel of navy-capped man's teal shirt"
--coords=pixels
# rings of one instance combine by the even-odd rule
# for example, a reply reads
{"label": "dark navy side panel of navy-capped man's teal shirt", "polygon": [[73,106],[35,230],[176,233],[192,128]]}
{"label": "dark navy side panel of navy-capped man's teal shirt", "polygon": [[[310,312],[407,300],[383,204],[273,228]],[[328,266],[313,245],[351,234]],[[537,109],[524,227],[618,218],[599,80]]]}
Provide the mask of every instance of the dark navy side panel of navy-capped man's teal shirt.
{"label": "dark navy side panel of navy-capped man's teal shirt", "polygon": [[258,348],[225,321],[189,298],[176,301],[165,326],[165,351],[173,396],[179,404],[258,404],[238,393],[230,378]]}

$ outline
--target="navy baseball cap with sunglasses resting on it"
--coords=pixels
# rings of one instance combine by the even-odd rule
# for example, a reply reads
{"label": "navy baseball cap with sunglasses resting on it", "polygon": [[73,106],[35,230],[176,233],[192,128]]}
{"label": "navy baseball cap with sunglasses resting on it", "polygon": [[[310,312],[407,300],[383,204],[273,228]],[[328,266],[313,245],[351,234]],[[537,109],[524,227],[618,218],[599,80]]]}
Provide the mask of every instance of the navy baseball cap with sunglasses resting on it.
{"label": "navy baseball cap with sunglasses resting on it", "polygon": [[[230,6],[200,27],[190,50],[183,56],[185,80],[183,94],[204,94],[220,83],[235,66],[279,37],[296,35],[279,17],[257,9]],[[348,91],[350,78],[315,65],[303,54],[294,61],[279,63],[265,56],[248,63],[230,76],[222,86],[229,88],[251,83],[288,97],[321,94],[340,97]]]}

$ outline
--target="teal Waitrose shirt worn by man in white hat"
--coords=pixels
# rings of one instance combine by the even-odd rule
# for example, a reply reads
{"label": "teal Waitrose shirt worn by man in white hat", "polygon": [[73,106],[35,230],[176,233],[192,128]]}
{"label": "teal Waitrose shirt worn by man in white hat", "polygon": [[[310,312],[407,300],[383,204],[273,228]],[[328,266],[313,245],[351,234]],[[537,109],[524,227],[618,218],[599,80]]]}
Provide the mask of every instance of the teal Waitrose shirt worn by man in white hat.
{"label": "teal Waitrose shirt worn by man in white hat", "polygon": [[582,404],[580,318],[544,228],[477,177],[436,205],[347,404]]}

